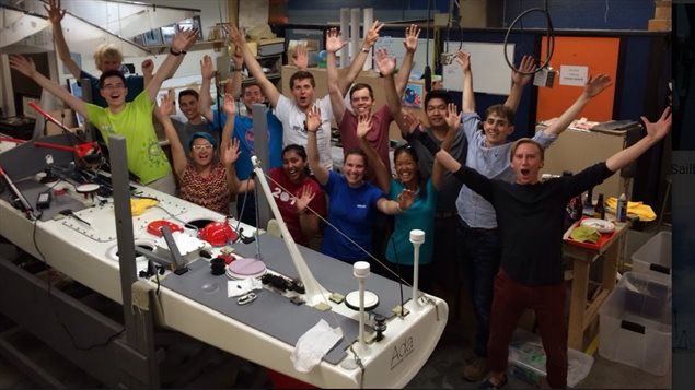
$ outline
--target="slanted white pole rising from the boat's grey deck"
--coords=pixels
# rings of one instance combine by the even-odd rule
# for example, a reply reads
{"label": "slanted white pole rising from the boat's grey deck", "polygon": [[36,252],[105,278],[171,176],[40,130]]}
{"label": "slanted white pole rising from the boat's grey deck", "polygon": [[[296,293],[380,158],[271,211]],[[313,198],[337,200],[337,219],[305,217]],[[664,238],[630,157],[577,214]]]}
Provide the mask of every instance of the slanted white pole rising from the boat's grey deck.
{"label": "slanted white pole rising from the boat's grey deck", "polygon": [[299,277],[304,284],[306,305],[315,306],[318,303],[325,302],[324,294],[328,294],[327,289],[325,289],[318,281],[314,277],[314,274],[311,273],[309,265],[304,261],[304,258],[299,252],[297,248],[297,244],[294,239],[292,239],[292,235],[290,231],[287,228],[285,224],[285,220],[282,220],[282,215],[280,214],[280,210],[278,209],[277,203],[275,203],[273,198],[273,193],[270,192],[270,186],[268,186],[268,181],[266,180],[265,175],[263,174],[263,169],[260,168],[260,161],[257,156],[251,157],[251,163],[254,166],[254,173],[258,178],[258,182],[260,182],[260,187],[266,194],[266,199],[268,199],[268,205],[273,211],[273,215],[278,222],[278,227],[282,233],[282,239],[285,239],[285,245],[287,246],[287,250],[290,252],[290,258],[292,258],[292,262],[294,263],[294,268],[297,268],[297,272],[299,273]]}

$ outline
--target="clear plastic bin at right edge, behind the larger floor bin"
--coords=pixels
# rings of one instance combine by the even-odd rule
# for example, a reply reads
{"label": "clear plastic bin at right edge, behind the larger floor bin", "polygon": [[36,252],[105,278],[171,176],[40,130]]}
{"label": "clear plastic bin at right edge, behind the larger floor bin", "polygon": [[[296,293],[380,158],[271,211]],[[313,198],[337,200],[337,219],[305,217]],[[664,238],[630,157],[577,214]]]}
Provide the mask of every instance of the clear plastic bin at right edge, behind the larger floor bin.
{"label": "clear plastic bin at right edge, behind the larger floor bin", "polygon": [[671,232],[659,232],[633,253],[633,271],[671,283]]}

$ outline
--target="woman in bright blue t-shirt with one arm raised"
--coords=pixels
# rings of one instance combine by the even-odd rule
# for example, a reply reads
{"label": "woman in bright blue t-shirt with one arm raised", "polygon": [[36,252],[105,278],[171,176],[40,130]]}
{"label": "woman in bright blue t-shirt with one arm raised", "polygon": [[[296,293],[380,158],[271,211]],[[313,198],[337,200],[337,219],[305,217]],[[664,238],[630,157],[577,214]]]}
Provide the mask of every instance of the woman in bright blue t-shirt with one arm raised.
{"label": "woman in bright blue t-shirt with one arm raised", "polygon": [[408,210],[415,192],[404,189],[397,201],[389,200],[384,191],[364,180],[367,156],[360,149],[354,149],[345,156],[344,175],[326,168],[318,157],[316,142],[321,122],[320,109],[313,106],[306,113],[306,155],[309,167],[329,199],[328,226],[324,231],[321,252],[348,263],[368,261],[373,270],[379,270],[380,264],[371,261],[371,221],[374,213],[395,215]]}

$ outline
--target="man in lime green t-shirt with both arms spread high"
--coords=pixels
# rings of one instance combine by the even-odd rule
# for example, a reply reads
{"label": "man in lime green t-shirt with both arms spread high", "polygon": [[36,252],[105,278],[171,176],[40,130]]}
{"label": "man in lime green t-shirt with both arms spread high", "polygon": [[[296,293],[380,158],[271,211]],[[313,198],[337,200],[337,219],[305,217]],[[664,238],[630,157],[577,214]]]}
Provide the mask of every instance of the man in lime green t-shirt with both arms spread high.
{"label": "man in lime green t-shirt with both arms spread high", "polygon": [[164,74],[174,73],[181,63],[181,57],[195,44],[196,29],[179,32],[174,35],[170,52],[160,67],[152,81],[146,86],[135,101],[126,103],[125,76],[117,70],[102,73],[100,78],[100,94],[108,104],[108,107],[100,107],[71,95],[66,88],[55,81],[47,79],[36,71],[36,66],[31,59],[23,56],[11,56],[10,67],[20,73],[34,80],[44,90],[63,101],[76,113],[82,115],[102,134],[108,143],[109,134],[120,134],[126,139],[128,154],[128,169],[137,176],[140,184],[153,187],[162,192],[174,194],[176,184],[172,169],[159,144],[154,127],[152,125],[152,111],[157,94],[164,82]]}

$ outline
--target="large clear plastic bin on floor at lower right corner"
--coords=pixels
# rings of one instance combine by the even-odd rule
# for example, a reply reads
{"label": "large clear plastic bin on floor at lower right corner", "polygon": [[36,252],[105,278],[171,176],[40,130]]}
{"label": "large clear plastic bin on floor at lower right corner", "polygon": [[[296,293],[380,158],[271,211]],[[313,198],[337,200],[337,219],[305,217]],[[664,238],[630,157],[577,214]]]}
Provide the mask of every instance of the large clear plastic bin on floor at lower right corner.
{"label": "large clear plastic bin on floor at lower right corner", "polygon": [[653,375],[671,366],[671,284],[626,272],[599,309],[599,354]]}

